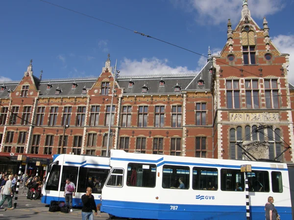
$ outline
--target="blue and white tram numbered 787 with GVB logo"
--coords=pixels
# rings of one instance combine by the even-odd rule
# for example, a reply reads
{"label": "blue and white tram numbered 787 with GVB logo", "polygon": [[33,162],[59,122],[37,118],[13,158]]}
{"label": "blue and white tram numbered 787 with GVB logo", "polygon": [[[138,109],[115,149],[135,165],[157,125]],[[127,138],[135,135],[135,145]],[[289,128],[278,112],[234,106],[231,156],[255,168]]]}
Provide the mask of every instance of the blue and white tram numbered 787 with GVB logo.
{"label": "blue and white tram numbered 787 with GVB logo", "polygon": [[265,219],[265,203],[272,196],[281,219],[292,220],[287,164],[120,150],[111,150],[100,210],[134,219],[246,219],[243,164],[252,166],[247,173],[251,219]]}

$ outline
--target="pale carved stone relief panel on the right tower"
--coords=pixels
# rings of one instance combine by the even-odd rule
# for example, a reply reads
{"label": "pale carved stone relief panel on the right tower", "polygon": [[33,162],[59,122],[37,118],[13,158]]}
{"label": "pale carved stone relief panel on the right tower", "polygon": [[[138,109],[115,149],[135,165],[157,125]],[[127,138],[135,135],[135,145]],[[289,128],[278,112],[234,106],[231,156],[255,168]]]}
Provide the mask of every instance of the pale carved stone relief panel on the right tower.
{"label": "pale carved stone relief panel on the right tower", "polygon": [[233,122],[278,122],[278,112],[241,112],[241,113],[230,113],[230,121]]}

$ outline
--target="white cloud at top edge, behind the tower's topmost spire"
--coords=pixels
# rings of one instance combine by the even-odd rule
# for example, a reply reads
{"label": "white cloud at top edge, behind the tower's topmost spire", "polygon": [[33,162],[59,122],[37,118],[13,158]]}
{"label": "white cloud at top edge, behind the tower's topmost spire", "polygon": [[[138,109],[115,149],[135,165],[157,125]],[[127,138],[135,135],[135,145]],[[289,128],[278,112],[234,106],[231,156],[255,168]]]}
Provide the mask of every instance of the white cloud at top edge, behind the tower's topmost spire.
{"label": "white cloud at top edge, behind the tower's topmost spire", "polygon": [[[241,19],[242,0],[171,0],[175,7],[196,13],[195,21],[200,24],[220,24],[231,19],[237,23]],[[285,4],[283,0],[250,0],[248,8],[251,16],[263,18],[280,11]],[[236,13],[237,12],[237,13]]]}

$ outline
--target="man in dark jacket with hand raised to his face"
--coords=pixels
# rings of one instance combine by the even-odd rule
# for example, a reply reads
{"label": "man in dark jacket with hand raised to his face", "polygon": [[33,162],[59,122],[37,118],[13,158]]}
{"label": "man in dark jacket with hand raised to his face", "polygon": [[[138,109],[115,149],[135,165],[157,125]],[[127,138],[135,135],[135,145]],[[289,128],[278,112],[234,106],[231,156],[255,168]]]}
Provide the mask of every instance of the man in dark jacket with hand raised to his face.
{"label": "man in dark jacket with hand raised to his face", "polygon": [[87,193],[82,196],[83,208],[82,208],[82,220],[94,220],[93,209],[97,216],[97,207],[94,196],[92,195],[92,188],[87,188]]}

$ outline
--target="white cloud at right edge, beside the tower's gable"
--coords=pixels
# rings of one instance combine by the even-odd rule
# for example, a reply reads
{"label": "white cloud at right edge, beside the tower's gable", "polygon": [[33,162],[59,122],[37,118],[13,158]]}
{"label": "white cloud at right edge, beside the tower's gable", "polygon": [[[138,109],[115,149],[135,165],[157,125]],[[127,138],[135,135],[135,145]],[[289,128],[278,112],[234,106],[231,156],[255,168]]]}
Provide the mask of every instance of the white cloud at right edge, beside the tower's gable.
{"label": "white cloud at right edge, beside the tower's gable", "polygon": [[281,53],[290,54],[288,79],[290,83],[294,84],[294,35],[278,35],[273,37],[271,41]]}

